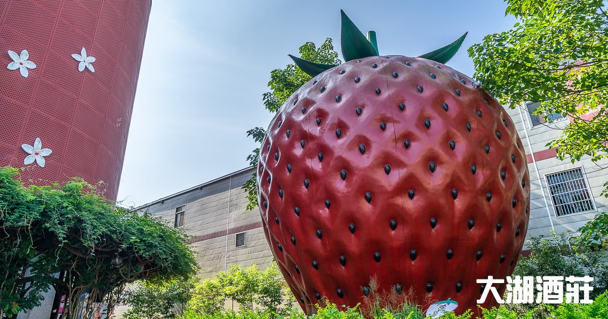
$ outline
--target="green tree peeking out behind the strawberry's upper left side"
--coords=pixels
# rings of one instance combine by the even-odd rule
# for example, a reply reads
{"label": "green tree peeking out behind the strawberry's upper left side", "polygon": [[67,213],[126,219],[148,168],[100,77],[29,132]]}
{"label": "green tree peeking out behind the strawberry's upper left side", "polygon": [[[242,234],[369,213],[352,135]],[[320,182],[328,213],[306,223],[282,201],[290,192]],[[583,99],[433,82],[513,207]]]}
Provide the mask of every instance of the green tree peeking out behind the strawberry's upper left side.
{"label": "green tree peeking out behind the strawberry's upper left side", "polygon": [[[304,60],[322,63],[322,64],[340,64],[342,61],[338,58],[338,53],[334,50],[331,38],[326,38],[325,42],[318,48],[312,42],[307,42],[300,47],[300,56]],[[295,63],[287,64],[284,69],[272,70],[270,74],[271,80],[268,81],[270,92],[262,95],[264,108],[269,112],[275,113],[283,105],[283,103],[297,90],[311,79],[310,75],[297,67]],[[264,128],[253,128],[247,131],[247,136],[253,137],[256,143],[261,144],[264,139],[266,130]],[[257,167],[260,154],[260,148],[254,149],[247,160],[253,167]],[[251,179],[247,180],[243,185],[243,189],[247,191],[247,210],[253,210],[258,205],[258,195],[256,186],[257,174],[254,173]]]}

